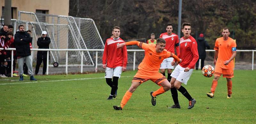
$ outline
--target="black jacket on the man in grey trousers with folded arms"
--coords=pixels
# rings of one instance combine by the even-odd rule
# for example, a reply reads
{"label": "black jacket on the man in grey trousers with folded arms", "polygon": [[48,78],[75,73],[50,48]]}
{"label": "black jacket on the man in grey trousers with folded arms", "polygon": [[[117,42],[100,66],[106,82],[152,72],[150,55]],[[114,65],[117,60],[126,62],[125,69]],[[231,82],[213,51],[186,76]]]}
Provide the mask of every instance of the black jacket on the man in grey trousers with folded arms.
{"label": "black jacket on the man in grey trousers with folded arms", "polygon": [[[22,40],[20,40],[22,39]],[[14,35],[14,44],[17,56],[31,55],[29,43],[32,43],[32,37],[27,32],[17,31]]]}

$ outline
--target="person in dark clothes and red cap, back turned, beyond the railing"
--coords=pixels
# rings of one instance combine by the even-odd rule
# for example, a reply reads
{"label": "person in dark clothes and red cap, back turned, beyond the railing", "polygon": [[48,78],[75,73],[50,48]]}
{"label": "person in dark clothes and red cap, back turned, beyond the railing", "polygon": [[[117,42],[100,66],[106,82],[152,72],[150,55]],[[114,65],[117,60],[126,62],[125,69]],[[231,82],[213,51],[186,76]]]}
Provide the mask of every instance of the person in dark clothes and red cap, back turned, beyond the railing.
{"label": "person in dark clothes and red cap, back turned, beyond the railing", "polygon": [[[197,39],[196,42],[198,44],[197,49],[198,49],[199,59],[201,59],[201,69],[203,69],[204,60],[206,58],[205,48],[210,49],[210,46],[208,45],[207,41],[204,39],[203,33],[199,34],[199,38]],[[196,70],[198,70],[199,59],[196,62]]]}

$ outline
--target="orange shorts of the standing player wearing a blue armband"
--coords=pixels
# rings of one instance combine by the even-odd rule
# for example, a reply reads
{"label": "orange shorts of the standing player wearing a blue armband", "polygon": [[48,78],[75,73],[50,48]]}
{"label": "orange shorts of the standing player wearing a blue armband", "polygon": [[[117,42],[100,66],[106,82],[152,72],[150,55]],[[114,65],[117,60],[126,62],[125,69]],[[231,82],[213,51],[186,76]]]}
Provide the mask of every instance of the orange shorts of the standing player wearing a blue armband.
{"label": "orange shorts of the standing player wearing a blue armband", "polygon": [[221,76],[222,74],[223,74],[223,77],[232,78],[232,77],[234,77],[234,70],[233,69],[222,69],[218,66],[215,66],[214,76]]}

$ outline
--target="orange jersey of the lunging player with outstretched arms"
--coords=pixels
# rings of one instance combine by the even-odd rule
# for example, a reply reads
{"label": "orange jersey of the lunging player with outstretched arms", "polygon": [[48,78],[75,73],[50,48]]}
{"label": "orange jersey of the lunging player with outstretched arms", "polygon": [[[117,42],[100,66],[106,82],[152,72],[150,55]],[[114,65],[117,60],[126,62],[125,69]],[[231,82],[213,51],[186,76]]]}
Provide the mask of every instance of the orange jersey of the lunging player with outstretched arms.
{"label": "orange jersey of the lunging player with outstretched arms", "polygon": [[146,73],[158,73],[158,70],[160,68],[160,64],[163,62],[164,59],[173,57],[175,60],[180,61],[180,59],[172,54],[171,52],[164,49],[163,52],[157,53],[156,52],[156,44],[154,43],[143,43],[139,41],[130,41],[125,42],[126,45],[137,45],[140,48],[145,50],[145,57],[140,63],[138,69],[140,71],[144,71]]}

